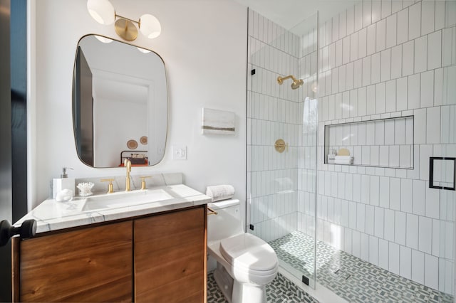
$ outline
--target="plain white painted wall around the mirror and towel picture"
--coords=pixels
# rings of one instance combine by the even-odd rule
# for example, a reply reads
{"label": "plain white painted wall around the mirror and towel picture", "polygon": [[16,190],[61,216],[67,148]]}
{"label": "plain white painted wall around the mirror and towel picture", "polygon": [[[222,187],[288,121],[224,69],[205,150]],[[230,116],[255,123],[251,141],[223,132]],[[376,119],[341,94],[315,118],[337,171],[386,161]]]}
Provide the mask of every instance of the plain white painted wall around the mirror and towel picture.
{"label": "plain white painted wall around the mirror and towel picture", "polygon": [[[32,1],[33,2],[33,1]],[[165,157],[132,174],[182,171],[185,184],[199,191],[232,184],[245,198],[247,9],[232,0],[111,1],[118,14],[157,16],[162,34],[133,43],[159,53],[167,68],[169,122]],[[40,0],[30,4],[31,77],[29,116],[29,206],[49,196],[49,182],[71,166],[70,176],[116,176],[123,169],[93,169],[79,161],[73,137],[71,85],[79,38],[100,33],[118,39],[113,26],[96,23],[86,0]],[[34,14],[36,13],[36,14]],[[120,39],[120,38],[119,38]],[[36,60],[35,60],[36,58]],[[237,115],[237,134],[203,136],[202,107]],[[187,146],[187,160],[171,160],[171,146]]]}

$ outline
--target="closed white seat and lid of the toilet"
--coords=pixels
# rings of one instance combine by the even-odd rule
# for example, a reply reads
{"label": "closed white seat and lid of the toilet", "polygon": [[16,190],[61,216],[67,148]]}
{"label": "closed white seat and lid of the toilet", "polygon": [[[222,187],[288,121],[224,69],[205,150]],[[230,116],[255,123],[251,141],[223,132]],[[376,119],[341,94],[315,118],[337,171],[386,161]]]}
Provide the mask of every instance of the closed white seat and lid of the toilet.
{"label": "closed white seat and lid of the toilet", "polygon": [[222,240],[220,252],[230,265],[253,275],[271,275],[277,270],[278,261],[274,249],[249,233]]}

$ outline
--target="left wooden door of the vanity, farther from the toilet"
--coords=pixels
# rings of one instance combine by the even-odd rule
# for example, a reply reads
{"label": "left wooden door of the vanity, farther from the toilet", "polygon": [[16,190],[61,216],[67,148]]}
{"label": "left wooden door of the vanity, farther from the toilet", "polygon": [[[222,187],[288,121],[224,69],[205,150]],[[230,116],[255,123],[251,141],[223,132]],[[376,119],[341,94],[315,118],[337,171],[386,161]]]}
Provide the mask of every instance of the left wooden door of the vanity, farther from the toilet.
{"label": "left wooden door of the vanity, farther from the toilet", "polygon": [[133,221],[22,240],[22,302],[132,300]]}

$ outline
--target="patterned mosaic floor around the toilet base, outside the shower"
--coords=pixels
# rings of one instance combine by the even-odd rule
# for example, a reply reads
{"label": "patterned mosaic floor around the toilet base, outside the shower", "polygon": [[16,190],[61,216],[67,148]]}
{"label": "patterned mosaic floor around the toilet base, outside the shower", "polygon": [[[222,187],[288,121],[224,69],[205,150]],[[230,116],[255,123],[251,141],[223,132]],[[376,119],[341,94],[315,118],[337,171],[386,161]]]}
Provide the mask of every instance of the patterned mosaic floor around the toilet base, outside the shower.
{"label": "patterned mosaic floor around the toilet base, outside the shower", "polygon": [[[281,274],[277,274],[276,278],[266,286],[266,297],[267,301],[272,303],[318,303],[316,299],[294,285]],[[217,286],[213,273],[209,272],[207,275],[207,303],[226,302],[228,301]]]}

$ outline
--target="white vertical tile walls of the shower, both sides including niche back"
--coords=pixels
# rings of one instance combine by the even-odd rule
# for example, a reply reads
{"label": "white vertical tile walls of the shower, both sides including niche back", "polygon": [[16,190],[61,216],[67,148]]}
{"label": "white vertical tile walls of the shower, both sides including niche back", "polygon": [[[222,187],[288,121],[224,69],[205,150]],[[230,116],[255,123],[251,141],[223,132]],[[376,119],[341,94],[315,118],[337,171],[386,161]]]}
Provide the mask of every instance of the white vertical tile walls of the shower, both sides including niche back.
{"label": "white vertical tile walls of the shower, both sides including niche back", "polygon": [[[456,156],[456,1],[359,1],[319,30],[317,50],[315,31],[295,36],[249,13],[253,233],[266,240],[294,228],[316,233],[454,294],[456,194],[429,188],[428,175],[430,156]],[[306,99],[317,68],[318,130],[317,105]],[[277,75],[289,74],[304,79],[302,89],[276,85]],[[363,123],[346,127],[351,122]],[[366,166],[324,164],[325,126],[331,147],[348,148]],[[272,148],[279,137],[288,153]]]}

